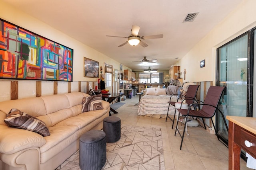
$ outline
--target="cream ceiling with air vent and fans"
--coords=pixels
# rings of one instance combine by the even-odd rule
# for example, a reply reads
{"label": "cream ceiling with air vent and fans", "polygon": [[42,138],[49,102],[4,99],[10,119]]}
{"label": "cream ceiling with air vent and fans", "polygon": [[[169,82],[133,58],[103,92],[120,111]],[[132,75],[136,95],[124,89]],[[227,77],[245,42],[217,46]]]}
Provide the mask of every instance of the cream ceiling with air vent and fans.
{"label": "cream ceiling with air vent and fans", "polygon": [[[152,69],[168,70],[242,0],[0,0],[23,10],[100,53],[128,66],[139,66],[143,56],[158,59]],[[186,14],[199,12],[193,22],[183,23]],[[145,39],[141,45],[118,47],[127,39],[132,25],[139,35],[163,34]],[[178,59],[175,59],[178,57]]]}

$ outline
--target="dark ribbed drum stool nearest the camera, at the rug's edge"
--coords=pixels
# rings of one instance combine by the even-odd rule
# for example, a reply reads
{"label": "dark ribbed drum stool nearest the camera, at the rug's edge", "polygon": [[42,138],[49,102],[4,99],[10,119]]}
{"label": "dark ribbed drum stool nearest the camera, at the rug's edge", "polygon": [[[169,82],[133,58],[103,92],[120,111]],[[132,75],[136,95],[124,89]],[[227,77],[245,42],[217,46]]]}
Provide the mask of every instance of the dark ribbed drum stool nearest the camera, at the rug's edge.
{"label": "dark ribbed drum stool nearest the camera, at the rug's edge", "polygon": [[100,170],[106,163],[106,134],[100,130],[84,133],[79,141],[81,170]]}

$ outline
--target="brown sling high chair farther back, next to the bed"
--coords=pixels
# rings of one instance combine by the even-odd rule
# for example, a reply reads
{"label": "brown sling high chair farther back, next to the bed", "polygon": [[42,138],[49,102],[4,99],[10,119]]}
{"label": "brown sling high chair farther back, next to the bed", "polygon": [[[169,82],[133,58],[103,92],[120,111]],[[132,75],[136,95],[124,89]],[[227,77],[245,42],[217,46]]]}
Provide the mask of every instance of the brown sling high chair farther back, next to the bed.
{"label": "brown sling high chair farther back, next to the bed", "polygon": [[[167,121],[167,118],[169,118],[169,119],[172,121],[172,129],[173,129],[174,119],[175,119],[175,115],[176,115],[176,111],[177,111],[177,108],[175,107],[175,103],[178,102],[180,99],[186,100],[186,103],[188,104],[188,106],[189,106],[190,104],[194,103],[194,100],[195,100],[195,98],[196,98],[196,93],[197,93],[197,91],[198,91],[198,88],[199,88],[199,85],[190,85],[190,86],[188,86],[188,90],[187,90],[185,96],[183,96],[183,95],[181,95],[181,94],[172,94],[172,95],[171,95],[170,101],[168,102],[168,103],[169,103],[169,106],[168,106],[168,111],[167,111],[167,115],[166,115],[165,121]],[[176,102],[172,102],[172,101],[171,101],[172,96],[178,96]],[[180,101],[181,101],[181,100],[180,100]],[[169,109],[170,109],[170,105],[172,105],[172,106],[175,107],[175,111],[174,111],[174,116],[173,116],[173,118],[171,118],[170,116],[168,116]],[[182,108],[182,104],[180,105],[180,108]]]}

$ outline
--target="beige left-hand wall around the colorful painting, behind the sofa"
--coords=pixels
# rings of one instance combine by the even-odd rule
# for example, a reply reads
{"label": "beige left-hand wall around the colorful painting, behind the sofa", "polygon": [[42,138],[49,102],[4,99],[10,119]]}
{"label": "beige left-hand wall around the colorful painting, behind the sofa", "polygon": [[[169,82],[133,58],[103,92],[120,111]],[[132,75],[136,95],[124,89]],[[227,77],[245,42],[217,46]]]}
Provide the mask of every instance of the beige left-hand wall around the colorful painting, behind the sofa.
{"label": "beige left-hand wall around the colorful painting, behind the sofa", "polygon": [[[20,27],[28,29],[34,33],[42,35],[48,39],[56,41],[74,50],[73,55],[73,81],[71,91],[78,91],[78,81],[82,82],[97,82],[97,78],[85,78],[83,75],[83,62],[87,57],[99,62],[99,65],[104,68],[104,63],[113,65],[114,68],[120,68],[120,63],[114,61],[110,57],[76,41],[72,37],[54,29],[50,25],[43,23],[28,16],[24,12],[1,2],[0,18],[14,23]],[[123,66],[123,69],[127,69]],[[81,83],[82,92],[86,88],[86,83]],[[58,94],[68,92],[68,82],[58,82]],[[42,81],[42,96],[53,94],[53,81]],[[35,97],[36,82],[32,80],[19,81],[18,83],[18,98]],[[10,100],[10,80],[0,80],[0,101]]]}

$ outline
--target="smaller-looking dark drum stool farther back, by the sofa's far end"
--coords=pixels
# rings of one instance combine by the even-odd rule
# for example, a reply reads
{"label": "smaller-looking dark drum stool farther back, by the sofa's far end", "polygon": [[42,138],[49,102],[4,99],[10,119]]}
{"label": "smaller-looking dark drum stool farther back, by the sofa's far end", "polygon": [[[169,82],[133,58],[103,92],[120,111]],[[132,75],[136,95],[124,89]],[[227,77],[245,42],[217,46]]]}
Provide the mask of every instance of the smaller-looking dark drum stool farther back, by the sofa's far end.
{"label": "smaller-looking dark drum stool farther back, by the sofa's far end", "polygon": [[121,137],[121,120],[116,116],[103,119],[103,131],[106,133],[106,142],[116,142]]}

